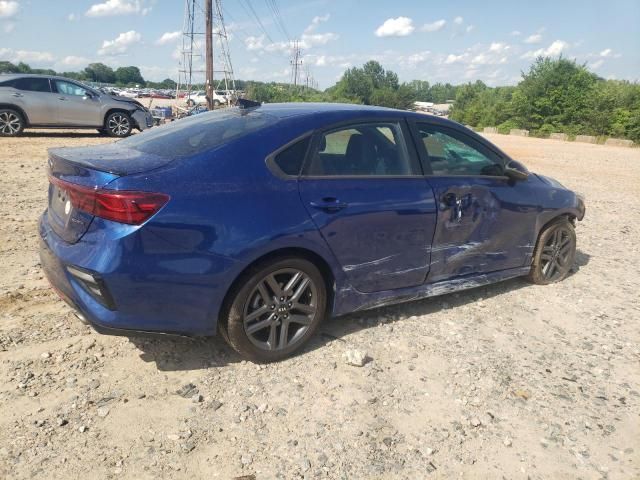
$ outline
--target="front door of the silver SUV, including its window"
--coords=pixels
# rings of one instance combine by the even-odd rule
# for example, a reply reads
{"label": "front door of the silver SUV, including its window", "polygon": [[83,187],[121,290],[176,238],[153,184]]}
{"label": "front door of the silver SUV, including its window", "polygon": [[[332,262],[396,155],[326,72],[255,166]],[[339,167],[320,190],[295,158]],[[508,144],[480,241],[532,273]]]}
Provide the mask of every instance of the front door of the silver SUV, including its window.
{"label": "front door of the silver SUV, including its window", "polygon": [[99,127],[103,124],[100,98],[81,85],[66,80],[54,80],[60,125]]}

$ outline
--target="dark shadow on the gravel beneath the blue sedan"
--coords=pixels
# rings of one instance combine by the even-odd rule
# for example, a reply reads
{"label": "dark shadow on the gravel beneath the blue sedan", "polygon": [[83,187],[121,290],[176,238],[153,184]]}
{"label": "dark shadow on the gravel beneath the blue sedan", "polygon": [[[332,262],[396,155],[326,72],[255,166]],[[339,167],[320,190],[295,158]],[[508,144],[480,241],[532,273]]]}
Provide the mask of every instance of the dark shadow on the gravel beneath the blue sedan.
{"label": "dark shadow on the gravel beneath the blue sedan", "polygon": [[[589,254],[577,250],[570,275],[575,275],[580,268],[586,266],[589,259]],[[525,278],[519,277],[437,297],[333,317],[320,326],[319,333],[311,339],[299,355],[323,348],[331,342],[341,342],[346,345],[348,341],[344,337],[365,328],[376,327],[380,323],[393,324],[413,316],[430,315],[443,309],[457,309],[531,286]],[[143,361],[154,362],[160,371],[209,369],[243,361],[243,358],[220,336],[195,338],[132,336],[129,337],[129,341],[140,350],[140,358]]]}

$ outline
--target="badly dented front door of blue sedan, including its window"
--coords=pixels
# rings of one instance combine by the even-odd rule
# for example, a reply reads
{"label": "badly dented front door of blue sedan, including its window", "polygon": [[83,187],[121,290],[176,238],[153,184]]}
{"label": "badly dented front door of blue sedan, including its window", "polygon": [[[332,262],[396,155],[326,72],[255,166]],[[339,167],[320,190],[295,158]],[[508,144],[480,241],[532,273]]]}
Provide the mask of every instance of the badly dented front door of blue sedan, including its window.
{"label": "badly dented front door of blue sedan, including its window", "polygon": [[461,129],[416,123],[438,207],[428,282],[522,267],[535,241],[532,181],[504,175],[507,159]]}

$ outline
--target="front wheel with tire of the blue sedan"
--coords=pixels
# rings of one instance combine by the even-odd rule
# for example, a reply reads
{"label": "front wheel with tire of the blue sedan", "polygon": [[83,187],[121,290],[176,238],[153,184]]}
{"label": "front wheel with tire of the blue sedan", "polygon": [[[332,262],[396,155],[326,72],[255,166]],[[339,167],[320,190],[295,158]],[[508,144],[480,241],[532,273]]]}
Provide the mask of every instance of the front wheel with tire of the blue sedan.
{"label": "front wheel with tire of the blue sedan", "polygon": [[547,225],[538,237],[527,279],[537,285],[564,280],[576,257],[576,231],[567,218]]}

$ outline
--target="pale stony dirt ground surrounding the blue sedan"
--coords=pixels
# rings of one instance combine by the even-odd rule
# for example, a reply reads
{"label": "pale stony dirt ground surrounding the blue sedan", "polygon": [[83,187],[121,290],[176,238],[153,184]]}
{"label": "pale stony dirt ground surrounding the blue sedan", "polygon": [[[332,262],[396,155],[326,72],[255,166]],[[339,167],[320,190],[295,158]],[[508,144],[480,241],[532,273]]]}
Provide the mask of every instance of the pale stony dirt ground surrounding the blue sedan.
{"label": "pale stony dirt ground surrounding the blue sedan", "polygon": [[640,149],[490,138],[585,195],[573,274],[332,319],[267,366],[83,326],[40,271],[46,149],[109,140],[1,139],[0,478],[639,478]]}

